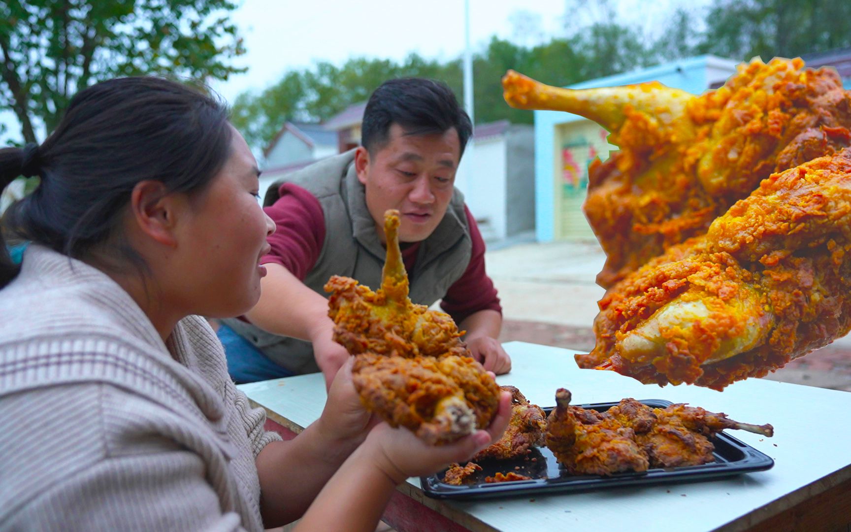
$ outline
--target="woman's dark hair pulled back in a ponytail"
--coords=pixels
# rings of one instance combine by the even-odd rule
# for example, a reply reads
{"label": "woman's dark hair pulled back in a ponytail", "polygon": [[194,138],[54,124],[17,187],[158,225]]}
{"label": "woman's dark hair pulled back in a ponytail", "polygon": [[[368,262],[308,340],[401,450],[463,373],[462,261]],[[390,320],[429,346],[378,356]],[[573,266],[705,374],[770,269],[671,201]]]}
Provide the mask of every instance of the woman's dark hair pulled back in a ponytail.
{"label": "woman's dark hair pulled back in a ponytail", "polygon": [[[112,237],[134,186],[197,192],[230,155],[226,106],[181,83],[123,77],[83,89],[41,146],[0,150],[0,191],[20,175],[36,190],[4,216],[9,236],[83,258]],[[129,246],[111,252],[136,263]],[[0,237],[0,288],[16,275]]]}

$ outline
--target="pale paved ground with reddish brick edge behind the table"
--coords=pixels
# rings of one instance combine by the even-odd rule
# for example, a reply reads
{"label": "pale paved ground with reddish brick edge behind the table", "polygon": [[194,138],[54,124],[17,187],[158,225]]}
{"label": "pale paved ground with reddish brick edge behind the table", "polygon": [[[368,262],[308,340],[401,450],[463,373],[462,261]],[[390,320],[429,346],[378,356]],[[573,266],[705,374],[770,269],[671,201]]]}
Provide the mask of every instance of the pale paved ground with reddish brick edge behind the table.
{"label": "pale paved ground with reddish brick edge behind the table", "polygon": [[[596,242],[494,246],[485,259],[502,299],[501,341],[580,350],[594,346],[591,323],[603,295],[594,278],[605,260]],[[851,392],[851,338],[834,341],[766,378]]]}

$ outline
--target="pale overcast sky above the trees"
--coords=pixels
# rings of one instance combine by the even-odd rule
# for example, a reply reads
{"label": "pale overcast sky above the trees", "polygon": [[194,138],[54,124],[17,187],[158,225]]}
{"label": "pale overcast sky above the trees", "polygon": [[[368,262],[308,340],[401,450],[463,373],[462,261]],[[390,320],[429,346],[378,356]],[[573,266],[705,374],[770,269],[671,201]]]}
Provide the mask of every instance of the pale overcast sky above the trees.
{"label": "pale overcast sky above the trees", "polygon": [[[104,0],[106,1],[106,0]],[[581,1],[581,0],[580,0]],[[621,24],[653,33],[665,26],[677,5],[700,9],[711,0],[609,0]],[[237,0],[238,2],[238,0]],[[469,0],[471,46],[481,50],[491,36],[534,45],[565,34],[565,0]],[[570,23],[584,26],[603,20],[601,0],[585,0],[581,16]],[[351,57],[402,60],[411,52],[427,59],[452,60],[464,50],[464,0],[242,0],[231,14],[247,53],[233,60],[248,72],[213,88],[228,102],[246,91],[260,91],[290,69],[319,60],[340,65]],[[460,97],[460,94],[459,94]],[[20,139],[12,112],[0,110],[9,126],[3,140]]]}

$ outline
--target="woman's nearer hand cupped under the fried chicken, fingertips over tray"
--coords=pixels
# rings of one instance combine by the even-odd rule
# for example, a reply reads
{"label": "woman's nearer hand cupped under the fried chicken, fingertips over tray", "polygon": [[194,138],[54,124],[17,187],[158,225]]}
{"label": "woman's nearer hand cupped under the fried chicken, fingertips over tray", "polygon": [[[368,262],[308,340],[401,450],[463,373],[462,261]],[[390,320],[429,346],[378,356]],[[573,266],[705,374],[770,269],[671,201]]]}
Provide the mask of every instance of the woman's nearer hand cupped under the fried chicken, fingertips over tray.
{"label": "woman's nearer hand cupped under the fried chicken, fingertips over tray", "polygon": [[449,445],[433,446],[414,436],[406,428],[391,428],[386,423],[369,432],[360,452],[368,453],[374,465],[379,467],[395,483],[403,483],[408,477],[431,475],[452,462],[469,460],[481,449],[498,440],[511,419],[511,393],[500,394],[500,405],[494,420],[485,430],[478,430]]}

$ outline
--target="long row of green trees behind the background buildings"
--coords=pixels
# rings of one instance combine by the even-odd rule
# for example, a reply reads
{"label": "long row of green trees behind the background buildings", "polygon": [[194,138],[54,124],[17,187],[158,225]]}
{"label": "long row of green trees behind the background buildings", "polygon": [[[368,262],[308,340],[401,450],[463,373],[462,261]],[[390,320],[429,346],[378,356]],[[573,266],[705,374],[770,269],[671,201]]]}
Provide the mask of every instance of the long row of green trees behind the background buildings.
{"label": "long row of green trees behind the background buildings", "polygon": [[[605,0],[574,0],[566,5],[569,17],[565,20],[573,28],[566,37],[535,46],[493,37],[474,56],[477,123],[506,118],[512,123],[532,123],[533,113],[512,109],[502,99],[500,78],[508,69],[565,86],[696,54],[734,60],[761,55],[769,60],[775,55],[794,57],[851,46],[851,2],[714,0],[705,16],[700,16],[683,0],[657,38],[612,22],[617,20],[614,6]],[[589,16],[591,21],[583,26],[579,21]],[[534,24],[529,28],[534,30]],[[291,71],[259,94],[241,94],[234,105],[234,122],[248,144],[260,148],[287,120],[327,120],[346,106],[366,100],[386,79],[400,76],[437,78],[459,98],[463,94],[460,59],[439,63],[412,54],[397,64],[358,58],[343,66],[318,63]]]}

